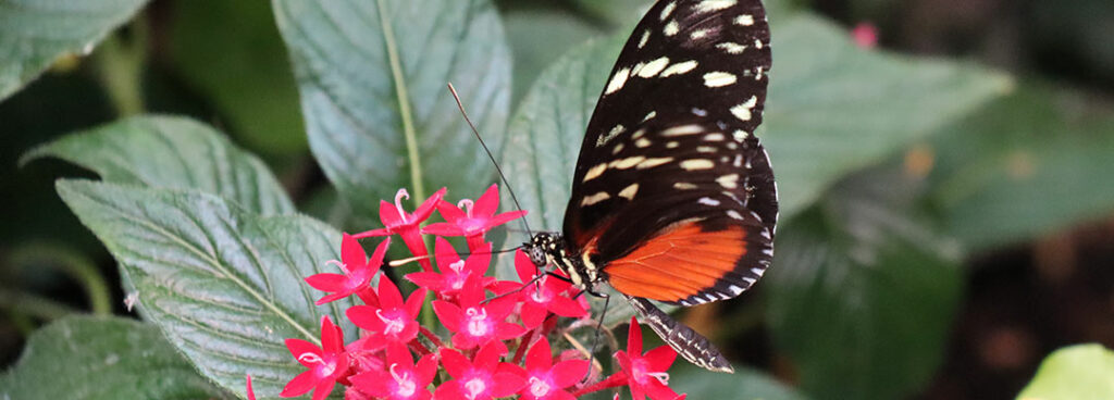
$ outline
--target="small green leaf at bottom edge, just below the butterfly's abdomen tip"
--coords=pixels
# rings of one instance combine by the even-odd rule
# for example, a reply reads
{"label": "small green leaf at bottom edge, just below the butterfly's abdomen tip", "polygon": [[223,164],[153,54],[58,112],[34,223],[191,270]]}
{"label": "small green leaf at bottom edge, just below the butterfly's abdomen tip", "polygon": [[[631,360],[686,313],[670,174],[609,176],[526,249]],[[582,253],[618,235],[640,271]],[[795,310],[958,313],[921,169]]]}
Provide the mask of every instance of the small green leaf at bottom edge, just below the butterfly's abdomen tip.
{"label": "small green leaf at bottom edge, just below the butterfly's abdomen tip", "polygon": [[684,364],[684,367],[670,371],[670,387],[677,393],[687,393],[690,399],[807,399],[761,371],[739,365],[735,367],[735,373],[726,374]]}

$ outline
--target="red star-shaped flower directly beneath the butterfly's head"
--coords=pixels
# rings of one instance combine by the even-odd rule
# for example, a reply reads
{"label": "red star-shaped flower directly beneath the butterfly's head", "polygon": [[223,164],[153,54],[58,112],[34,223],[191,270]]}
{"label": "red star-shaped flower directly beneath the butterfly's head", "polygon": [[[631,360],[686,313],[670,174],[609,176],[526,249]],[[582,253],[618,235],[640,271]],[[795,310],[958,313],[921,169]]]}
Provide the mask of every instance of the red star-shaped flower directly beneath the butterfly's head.
{"label": "red star-shaped flower directly beneath the butterfly's head", "polygon": [[[573,287],[573,284],[568,282],[544,275],[538,282],[527,284],[536,276],[538,269],[521,250],[515,252],[515,271],[518,272],[518,279],[522,282],[515,290],[521,289],[519,292],[522,301],[521,316],[522,324],[527,329],[541,325],[549,312],[568,318],[580,318],[588,313],[587,304],[563,295]],[[527,284],[527,286],[521,287],[522,284]]]}

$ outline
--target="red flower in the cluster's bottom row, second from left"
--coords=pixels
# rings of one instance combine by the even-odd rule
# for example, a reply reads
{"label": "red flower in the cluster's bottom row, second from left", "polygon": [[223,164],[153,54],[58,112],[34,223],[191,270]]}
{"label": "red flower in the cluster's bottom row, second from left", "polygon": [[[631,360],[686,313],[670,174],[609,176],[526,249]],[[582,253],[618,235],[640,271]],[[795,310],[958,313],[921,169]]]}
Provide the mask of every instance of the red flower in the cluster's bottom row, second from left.
{"label": "red flower in the cluster's bottom row, second from left", "polygon": [[352,377],[352,384],[359,391],[377,399],[390,400],[427,400],[430,398],[426,387],[437,374],[437,357],[427,354],[418,360],[410,355],[403,344],[387,345],[387,365],[383,370],[370,370]]}

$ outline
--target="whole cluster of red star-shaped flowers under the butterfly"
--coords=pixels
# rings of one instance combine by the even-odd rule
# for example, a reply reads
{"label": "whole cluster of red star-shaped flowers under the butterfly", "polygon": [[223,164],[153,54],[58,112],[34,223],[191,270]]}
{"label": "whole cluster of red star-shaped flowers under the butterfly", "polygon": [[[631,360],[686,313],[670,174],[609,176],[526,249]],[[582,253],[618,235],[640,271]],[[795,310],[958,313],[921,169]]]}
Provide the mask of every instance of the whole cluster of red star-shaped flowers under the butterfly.
{"label": "whole cluster of red star-shaped flowers under the butterfly", "polygon": [[[619,387],[628,387],[639,400],[646,396],[684,398],[667,386],[666,370],[676,352],[666,345],[643,353],[642,332],[634,319],[627,350],[615,353],[620,370],[610,375],[585,379],[590,365],[582,352],[569,350],[555,358],[550,340],[561,338],[559,318],[590,318],[587,301],[558,272],[539,271],[521,251],[514,260],[518,282],[487,276],[492,245],[486,234],[526,212],[498,214],[496,185],[475,202],[462,199],[456,205],[443,201],[444,194],[446,189],[438,191],[408,213],[402,198],[409,194],[400,189],[394,204],[381,203],[384,228],[343,235],[341,260],[330,262],[341,273],[305,279],[325,293],[317,304],[359,297],[362,304],[349,308],[344,315],[360,328],[360,339],[344,343],[341,329],[326,316],[321,320],[320,347],[286,340],[286,348],[306,370],[286,384],[282,397],[312,391],[313,400],[321,400],[340,383],[344,398],[352,400],[567,400]],[[434,209],[446,222],[421,226]],[[388,265],[384,258],[394,235],[422,267],[404,276],[419,287],[408,296],[388,275],[379,274]],[[426,247],[426,235],[433,236],[433,255]],[[388,237],[368,258],[358,238],[372,236]],[[465,237],[467,257],[461,257],[448,236]],[[427,297],[431,303],[424,312],[432,310],[440,326],[419,323]],[[446,332],[447,338],[437,332]],[[590,377],[599,372],[592,371]],[[247,394],[255,398],[251,377]]]}

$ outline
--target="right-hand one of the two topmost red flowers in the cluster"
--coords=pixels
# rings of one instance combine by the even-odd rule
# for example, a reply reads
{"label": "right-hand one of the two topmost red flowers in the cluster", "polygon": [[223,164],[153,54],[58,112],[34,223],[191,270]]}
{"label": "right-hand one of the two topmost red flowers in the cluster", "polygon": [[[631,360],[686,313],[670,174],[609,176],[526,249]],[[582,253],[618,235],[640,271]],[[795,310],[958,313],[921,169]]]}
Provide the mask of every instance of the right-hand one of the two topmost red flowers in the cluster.
{"label": "right-hand one of the two topmost red flowers in the cluster", "polygon": [[465,236],[468,238],[468,248],[472,252],[483,245],[483,234],[492,227],[526,215],[526,211],[521,209],[495,214],[499,211],[498,185],[488,187],[487,192],[483,192],[480,198],[476,199],[476,203],[467,198],[460,201],[458,205],[441,201],[437,203],[437,211],[447,222],[430,224],[422,228],[422,233],[438,236]]}

